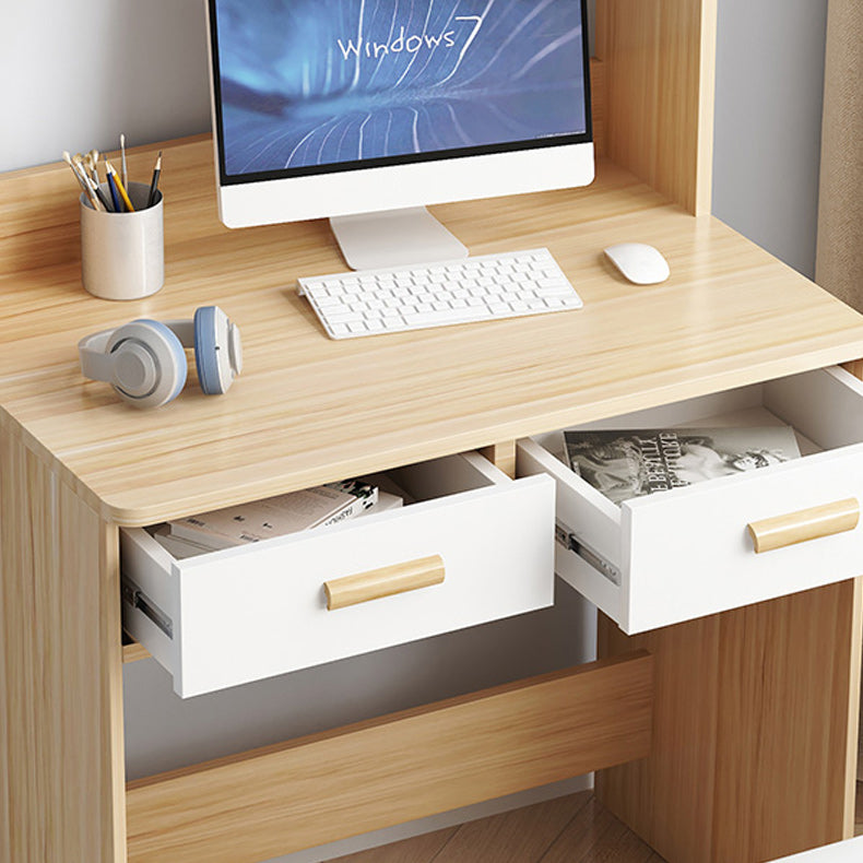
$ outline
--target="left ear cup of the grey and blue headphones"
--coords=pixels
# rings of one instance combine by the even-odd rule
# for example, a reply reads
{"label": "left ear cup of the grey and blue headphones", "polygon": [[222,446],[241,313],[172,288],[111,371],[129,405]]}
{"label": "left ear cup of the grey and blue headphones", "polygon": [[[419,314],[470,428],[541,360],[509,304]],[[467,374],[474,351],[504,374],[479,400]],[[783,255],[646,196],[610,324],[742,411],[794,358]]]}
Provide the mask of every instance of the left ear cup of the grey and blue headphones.
{"label": "left ear cup of the grey and blue headphones", "polygon": [[186,383],[186,353],[164,323],[141,319],[119,327],[108,340],[117,394],[135,407],[159,407]]}

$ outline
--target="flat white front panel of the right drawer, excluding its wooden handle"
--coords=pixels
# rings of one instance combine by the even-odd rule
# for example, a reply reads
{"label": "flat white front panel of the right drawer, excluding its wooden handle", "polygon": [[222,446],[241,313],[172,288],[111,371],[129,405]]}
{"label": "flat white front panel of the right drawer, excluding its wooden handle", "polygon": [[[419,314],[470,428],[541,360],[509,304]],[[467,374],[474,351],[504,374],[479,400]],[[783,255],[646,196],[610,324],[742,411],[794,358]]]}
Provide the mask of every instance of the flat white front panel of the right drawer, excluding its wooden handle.
{"label": "flat white front panel of the right drawer, excluding its wooden handle", "polygon": [[863,574],[859,523],[760,554],[748,530],[749,523],[849,498],[863,499],[863,445],[626,501],[626,630],[643,631]]}

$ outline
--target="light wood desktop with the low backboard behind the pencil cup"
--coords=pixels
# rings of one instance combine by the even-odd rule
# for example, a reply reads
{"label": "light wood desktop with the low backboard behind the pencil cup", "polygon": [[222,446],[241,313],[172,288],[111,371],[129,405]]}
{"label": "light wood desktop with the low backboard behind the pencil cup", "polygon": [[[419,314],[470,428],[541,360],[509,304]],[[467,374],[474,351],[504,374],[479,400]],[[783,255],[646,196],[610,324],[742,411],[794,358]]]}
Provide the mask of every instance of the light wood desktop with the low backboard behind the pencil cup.
{"label": "light wood desktop with the low backboard behind the pencil cup", "polygon": [[[132,151],[147,176],[154,147]],[[164,288],[111,303],[81,286],[74,180],[62,164],[0,177],[0,404],[10,433],[144,524],[602,416],[863,357],[863,317],[712,217],[611,163],[588,189],[434,208],[474,255],[547,246],[584,308],[334,342],[299,275],[345,265],[326,222],[228,230],[209,138],[165,146]],[[602,257],[660,248],[671,279],[636,287]],[[217,304],[245,367],[223,397],[120,403],[78,365],[83,335]]]}

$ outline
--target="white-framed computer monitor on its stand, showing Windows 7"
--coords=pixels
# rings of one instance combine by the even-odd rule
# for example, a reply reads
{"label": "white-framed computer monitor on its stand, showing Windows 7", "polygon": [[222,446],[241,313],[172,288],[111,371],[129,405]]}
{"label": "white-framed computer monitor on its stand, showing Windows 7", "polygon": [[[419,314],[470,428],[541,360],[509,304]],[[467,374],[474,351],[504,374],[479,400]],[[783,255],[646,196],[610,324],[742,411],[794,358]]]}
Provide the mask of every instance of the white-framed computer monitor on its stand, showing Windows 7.
{"label": "white-framed computer monitor on its stand, showing Windows 7", "polygon": [[208,0],[222,221],[367,269],[466,255],[426,204],[589,184],[586,3]]}

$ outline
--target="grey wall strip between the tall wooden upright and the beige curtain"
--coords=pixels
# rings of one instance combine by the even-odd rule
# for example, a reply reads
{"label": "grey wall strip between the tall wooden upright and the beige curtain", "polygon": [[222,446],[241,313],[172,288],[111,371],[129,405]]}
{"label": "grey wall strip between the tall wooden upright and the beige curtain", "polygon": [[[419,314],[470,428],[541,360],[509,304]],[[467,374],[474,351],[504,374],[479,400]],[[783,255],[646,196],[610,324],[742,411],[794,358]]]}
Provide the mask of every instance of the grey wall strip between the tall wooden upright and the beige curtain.
{"label": "grey wall strip between the tall wooden upright and the beige curtain", "polygon": [[719,0],[713,213],[813,277],[827,0]]}

